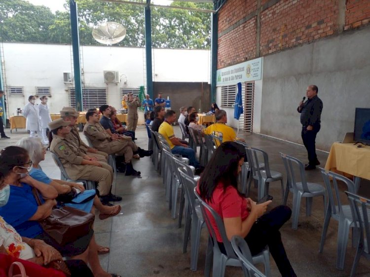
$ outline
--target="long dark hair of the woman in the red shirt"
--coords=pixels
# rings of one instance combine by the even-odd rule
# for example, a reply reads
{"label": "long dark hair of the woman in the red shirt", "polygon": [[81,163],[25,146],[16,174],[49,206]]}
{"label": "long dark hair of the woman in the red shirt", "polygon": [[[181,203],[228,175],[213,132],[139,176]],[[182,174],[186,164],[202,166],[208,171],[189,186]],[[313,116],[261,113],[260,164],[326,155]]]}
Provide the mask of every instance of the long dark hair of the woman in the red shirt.
{"label": "long dark hair of the woman in the red shirt", "polygon": [[[211,201],[213,192],[221,182],[223,191],[228,186],[238,187],[238,163],[244,158],[245,149],[234,141],[223,142],[213,154],[199,179],[200,197]],[[241,193],[241,196],[244,197]]]}

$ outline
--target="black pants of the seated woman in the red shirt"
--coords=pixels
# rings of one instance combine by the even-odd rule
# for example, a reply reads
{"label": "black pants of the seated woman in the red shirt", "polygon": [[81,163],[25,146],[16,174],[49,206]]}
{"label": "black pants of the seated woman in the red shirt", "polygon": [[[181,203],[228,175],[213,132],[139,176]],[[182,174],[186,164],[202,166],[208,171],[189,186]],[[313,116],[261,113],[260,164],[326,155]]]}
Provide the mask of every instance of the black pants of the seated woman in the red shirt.
{"label": "black pants of the seated woman in the red shirt", "polygon": [[[268,245],[271,256],[283,277],[295,277],[296,274],[289,262],[279,229],[289,220],[292,210],[287,206],[278,206],[263,214],[253,224],[245,241],[248,243],[252,256],[259,254]],[[220,250],[226,253],[223,243],[219,242]]]}

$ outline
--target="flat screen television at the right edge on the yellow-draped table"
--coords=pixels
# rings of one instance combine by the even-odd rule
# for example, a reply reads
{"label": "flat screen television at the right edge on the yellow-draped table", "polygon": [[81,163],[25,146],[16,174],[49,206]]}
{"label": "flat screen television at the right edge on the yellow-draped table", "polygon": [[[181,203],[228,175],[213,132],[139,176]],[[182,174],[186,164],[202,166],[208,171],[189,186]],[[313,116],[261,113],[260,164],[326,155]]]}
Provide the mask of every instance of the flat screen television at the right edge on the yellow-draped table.
{"label": "flat screen television at the right edge on the yellow-draped table", "polygon": [[356,108],[353,140],[370,145],[370,108]]}

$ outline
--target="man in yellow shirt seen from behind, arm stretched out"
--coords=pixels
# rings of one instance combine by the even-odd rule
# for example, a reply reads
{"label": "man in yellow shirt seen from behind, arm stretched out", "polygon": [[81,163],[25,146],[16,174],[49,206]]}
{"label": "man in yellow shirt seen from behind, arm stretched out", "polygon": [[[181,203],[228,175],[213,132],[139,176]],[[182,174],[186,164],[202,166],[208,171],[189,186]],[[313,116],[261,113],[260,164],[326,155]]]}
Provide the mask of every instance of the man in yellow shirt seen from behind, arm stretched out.
{"label": "man in yellow shirt seen from behind, arm stretched out", "polygon": [[234,129],[227,126],[227,116],[226,111],[223,109],[219,109],[216,111],[216,123],[208,126],[204,130],[204,134],[206,135],[215,135],[220,138],[222,138],[222,142],[226,141],[235,141],[235,140],[241,140],[245,142],[243,138],[237,138]]}

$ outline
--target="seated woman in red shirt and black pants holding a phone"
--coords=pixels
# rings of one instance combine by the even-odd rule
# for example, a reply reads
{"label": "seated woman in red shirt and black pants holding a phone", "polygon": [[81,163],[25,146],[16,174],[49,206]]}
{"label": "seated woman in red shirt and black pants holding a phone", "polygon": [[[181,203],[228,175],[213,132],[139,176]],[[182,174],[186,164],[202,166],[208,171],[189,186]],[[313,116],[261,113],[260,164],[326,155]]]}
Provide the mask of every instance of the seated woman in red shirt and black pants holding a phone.
{"label": "seated woman in red shirt and black pants holding a phone", "polygon": [[[291,217],[292,210],[278,206],[265,213],[271,201],[256,204],[238,192],[237,179],[244,156],[245,149],[240,144],[231,141],[222,143],[199,179],[198,193],[221,216],[228,240],[235,235],[245,238],[252,255],[257,255],[268,245],[280,274],[284,277],[296,276],[279,232]],[[210,218],[213,219],[211,215]],[[226,253],[216,222],[211,220],[211,225],[220,250]]]}

